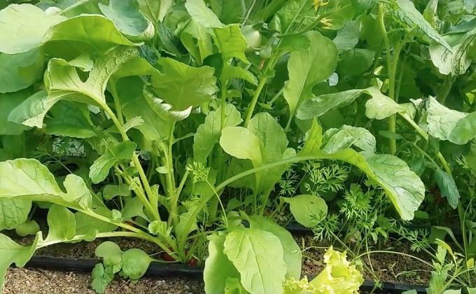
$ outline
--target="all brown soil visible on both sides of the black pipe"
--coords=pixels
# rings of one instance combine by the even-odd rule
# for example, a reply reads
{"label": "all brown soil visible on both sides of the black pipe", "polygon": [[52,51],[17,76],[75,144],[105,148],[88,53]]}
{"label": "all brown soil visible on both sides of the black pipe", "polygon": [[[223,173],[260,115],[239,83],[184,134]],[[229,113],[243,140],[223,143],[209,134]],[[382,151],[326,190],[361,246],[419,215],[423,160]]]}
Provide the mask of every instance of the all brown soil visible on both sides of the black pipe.
{"label": "all brown soil visible on both sides of the black pipe", "polygon": [[[19,238],[14,234],[8,234],[20,244],[31,244],[32,237]],[[302,247],[303,275],[315,276],[323,269],[323,255],[329,244],[316,242],[311,237],[295,237],[297,244]],[[142,248],[148,254],[160,253],[160,248],[150,242],[132,238],[111,239],[123,249]],[[35,255],[46,255],[64,258],[96,258],[96,247],[106,239],[92,242],[80,242],[76,244],[57,244],[41,248]],[[389,250],[395,244],[388,244]],[[398,251],[415,255],[409,250],[407,244],[398,244]],[[429,260],[428,256],[419,255],[423,260]],[[348,259],[350,256],[348,257]],[[363,268],[364,278],[367,280],[379,280],[395,283],[407,283],[416,285],[428,285],[428,267],[418,260],[394,253],[375,253],[361,259],[365,265]],[[373,269],[373,271],[371,270]],[[412,270],[412,272],[409,272]],[[28,294],[28,293],[91,293],[90,274],[72,272],[50,272],[43,269],[10,269],[7,275],[6,290],[3,294]],[[108,294],[112,293],[204,293],[203,282],[197,279],[149,279],[144,277],[138,283],[118,278],[109,287]]]}

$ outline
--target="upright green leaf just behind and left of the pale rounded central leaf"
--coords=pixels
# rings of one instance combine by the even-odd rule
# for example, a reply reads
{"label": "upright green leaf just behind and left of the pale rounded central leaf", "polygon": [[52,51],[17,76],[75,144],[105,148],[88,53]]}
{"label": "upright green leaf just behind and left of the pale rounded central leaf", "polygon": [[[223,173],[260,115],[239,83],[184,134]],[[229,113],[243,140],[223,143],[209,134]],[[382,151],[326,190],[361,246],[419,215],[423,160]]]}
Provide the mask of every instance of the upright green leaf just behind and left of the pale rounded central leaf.
{"label": "upright green leaf just behind and left of the pale rounded central leaf", "polygon": [[[241,113],[232,104],[225,106],[224,127],[235,127],[243,120]],[[193,139],[193,157],[197,162],[206,162],[208,156],[218,143],[221,135],[221,109],[210,111],[204,123],[197,128]]]}

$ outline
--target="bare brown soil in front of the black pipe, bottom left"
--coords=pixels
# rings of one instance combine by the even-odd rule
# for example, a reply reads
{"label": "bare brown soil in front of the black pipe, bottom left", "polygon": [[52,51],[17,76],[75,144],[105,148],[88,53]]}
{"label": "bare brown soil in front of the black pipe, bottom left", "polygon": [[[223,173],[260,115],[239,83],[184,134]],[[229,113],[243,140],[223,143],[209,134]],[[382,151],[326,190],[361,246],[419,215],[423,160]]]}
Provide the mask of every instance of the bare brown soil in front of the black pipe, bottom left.
{"label": "bare brown soil in front of the black pipe, bottom left", "polygon": [[[3,294],[95,294],[90,285],[87,274],[10,268]],[[191,279],[117,279],[106,294],[202,294],[203,288],[202,281]]]}

